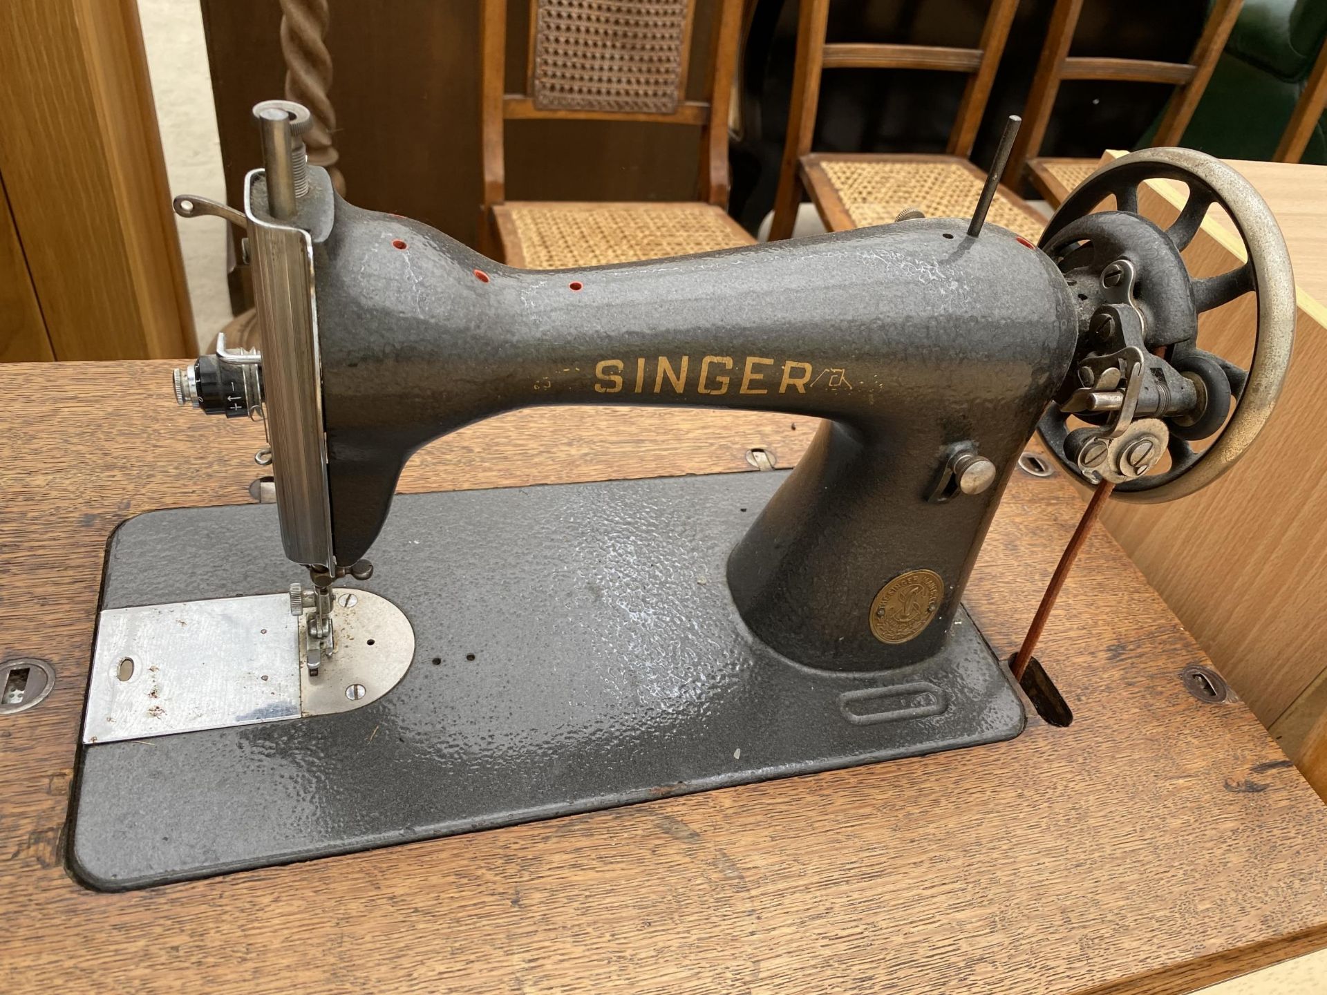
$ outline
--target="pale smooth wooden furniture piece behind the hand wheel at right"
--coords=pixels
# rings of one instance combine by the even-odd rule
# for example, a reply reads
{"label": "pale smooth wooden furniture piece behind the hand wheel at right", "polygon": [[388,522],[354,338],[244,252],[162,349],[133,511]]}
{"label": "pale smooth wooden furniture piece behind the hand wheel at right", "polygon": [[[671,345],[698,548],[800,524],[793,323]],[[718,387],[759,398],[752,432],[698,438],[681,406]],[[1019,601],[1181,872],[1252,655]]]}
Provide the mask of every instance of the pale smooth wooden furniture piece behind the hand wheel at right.
{"label": "pale smooth wooden furniture piece behind the hand wheel at right", "polygon": [[[1327,291],[1327,168],[1231,166],[1281,222],[1299,284],[1295,350],[1281,399],[1239,464],[1210,487],[1166,504],[1115,504],[1103,520],[1270,726],[1323,673],[1327,638],[1327,524],[1320,513],[1327,498],[1327,410],[1320,399],[1327,308],[1304,291]],[[1140,191],[1139,206],[1166,224],[1184,199],[1182,186],[1154,180]],[[1216,276],[1242,263],[1242,240],[1222,218],[1213,208],[1185,251],[1192,275]],[[1198,344],[1247,367],[1255,326],[1255,298],[1246,295],[1200,318]],[[1286,746],[1294,756],[1296,743]]]}

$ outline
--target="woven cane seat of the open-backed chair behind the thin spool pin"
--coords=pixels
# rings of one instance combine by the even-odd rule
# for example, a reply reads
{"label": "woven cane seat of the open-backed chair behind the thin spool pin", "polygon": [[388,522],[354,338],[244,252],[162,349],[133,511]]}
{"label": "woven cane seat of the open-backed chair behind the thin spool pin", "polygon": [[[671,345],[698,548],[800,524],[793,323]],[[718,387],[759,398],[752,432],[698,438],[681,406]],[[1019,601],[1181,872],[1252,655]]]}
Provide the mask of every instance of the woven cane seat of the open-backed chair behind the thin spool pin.
{"label": "woven cane seat of the open-backed chair behind the thin spool pin", "polygon": [[[986,180],[957,157],[813,154],[802,167],[820,215],[835,231],[888,224],[909,207],[928,218],[970,218]],[[1031,241],[1046,227],[1044,218],[1005,187],[986,218]]]}

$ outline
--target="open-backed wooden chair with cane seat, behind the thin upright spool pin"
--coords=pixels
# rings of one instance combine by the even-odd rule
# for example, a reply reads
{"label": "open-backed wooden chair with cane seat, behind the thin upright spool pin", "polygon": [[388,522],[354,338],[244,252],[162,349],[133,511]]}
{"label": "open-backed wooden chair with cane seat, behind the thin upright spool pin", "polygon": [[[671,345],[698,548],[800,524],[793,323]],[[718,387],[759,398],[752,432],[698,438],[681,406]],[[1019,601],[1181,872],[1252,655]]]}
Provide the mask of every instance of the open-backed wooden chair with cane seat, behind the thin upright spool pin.
{"label": "open-backed wooden chair with cane seat, behind the thin upright spool pin", "polygon": [[[809,192],[831,231],[897,219],[909,207],[928,216],[963,218],[977,206],[986,174],[967,157],[986,110],[1018,0],[993,0],[975,49],[934,45],[825,42],[829,0],[802,0],[788,135],[783,147],[771,239],[792,235],[798,204]],[[967,74],[958,121],[945,155],[811,153],[820,74],[825,69],[942,69]],[[1001,187],[990,220],[1036,239],[1046,222]]]}

